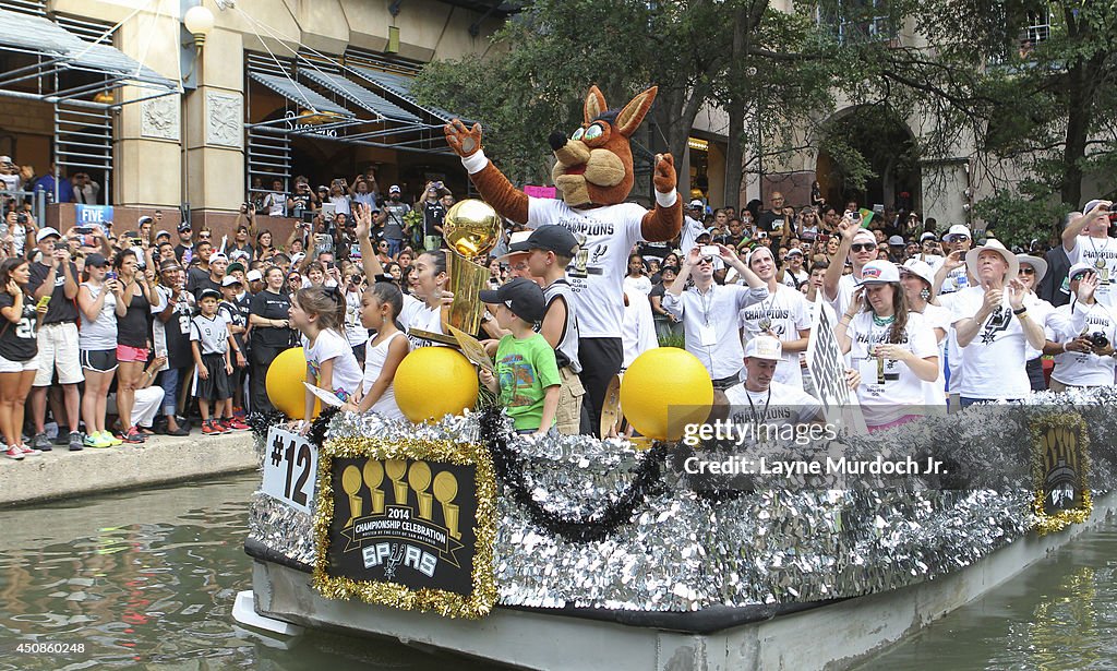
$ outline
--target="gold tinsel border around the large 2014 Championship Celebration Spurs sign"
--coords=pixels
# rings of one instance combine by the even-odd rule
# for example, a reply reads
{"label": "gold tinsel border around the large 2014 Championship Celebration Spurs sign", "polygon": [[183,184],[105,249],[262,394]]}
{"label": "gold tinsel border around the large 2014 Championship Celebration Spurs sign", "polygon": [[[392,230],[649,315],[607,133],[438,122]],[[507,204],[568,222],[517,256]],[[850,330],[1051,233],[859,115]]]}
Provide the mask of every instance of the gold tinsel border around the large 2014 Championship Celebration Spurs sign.
{"label": "gold tinsel border around the large 2014 Championship Celebration Spurs sign", "polygon": [[[334,459],[366,457],[376,460],[422,460],[472,466],[476,470],[477,515],[474,533],[477,541],[472,557],[472,589],[469,596],[437,588],[413,589],[386,581],[354,581],[331,576],[326,572],[330,550],[330,527],[334,517]],[[314,512],[313,584],[326,598],[357,597],[404,611],[435,612],[449,617],[479,619],[488,615],[497,600],[494,565],[497,505],[496,470],[483,445],[452,441],[410,439],[388,442],[375,438],[343,437],[327,440],[318,452],[318,492]],[[465,520],[462,520],[465,521]]]}

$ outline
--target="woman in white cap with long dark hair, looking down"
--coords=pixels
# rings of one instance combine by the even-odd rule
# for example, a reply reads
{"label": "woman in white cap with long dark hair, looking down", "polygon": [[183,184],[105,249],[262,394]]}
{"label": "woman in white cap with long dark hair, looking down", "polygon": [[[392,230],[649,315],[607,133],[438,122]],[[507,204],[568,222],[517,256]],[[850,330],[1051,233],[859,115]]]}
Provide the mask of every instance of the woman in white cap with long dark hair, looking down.
{"label": "woman in white cap with long dark hair, looking down", "polygon": [[857,397],[870,431],[919,416],[924,383],[938,377],[938,347],[923,315],[908,307],[895,263],[866,263],[834,335],[861,373]]}

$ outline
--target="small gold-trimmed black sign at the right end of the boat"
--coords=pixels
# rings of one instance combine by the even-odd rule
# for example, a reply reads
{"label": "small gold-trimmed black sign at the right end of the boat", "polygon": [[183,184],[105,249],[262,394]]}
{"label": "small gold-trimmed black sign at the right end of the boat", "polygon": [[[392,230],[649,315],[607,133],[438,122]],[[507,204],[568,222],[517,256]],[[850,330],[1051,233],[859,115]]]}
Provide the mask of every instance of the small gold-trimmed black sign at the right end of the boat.
{"label": "small gold-trimmed black sign at the right end of the boat", "polygon": [[[1094,511],[1088,485],[1090,434],[1086,421],[1076,412],[1044,413],[1032,418],[1028,429],[1032,438],[1031,471],[1035,491],[1032,514],[1035,516],[1035,530],[1042,536],[1061,531],[1071,524],[1082,524]],[[1066,471],[1070,477],[1065,485],[1070,487],[1072,500],[1077,498],[1078,505],[1050,512],[1047,506],[1048,498],[1052,496],[1050,480],[1057,471]]]}

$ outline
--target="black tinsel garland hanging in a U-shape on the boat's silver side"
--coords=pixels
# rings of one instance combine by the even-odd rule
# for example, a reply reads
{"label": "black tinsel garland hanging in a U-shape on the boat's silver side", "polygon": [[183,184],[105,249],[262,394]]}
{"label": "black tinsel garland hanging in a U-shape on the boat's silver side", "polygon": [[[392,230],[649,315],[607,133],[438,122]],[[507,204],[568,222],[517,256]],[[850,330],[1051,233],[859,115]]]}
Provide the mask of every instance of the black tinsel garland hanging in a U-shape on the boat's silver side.
{"label": "black tinsel garland hanging in a U-shape on the boat's silver side", "polygon": [[621,525],[629,524],[637,507],[662,486],[660,473],[670,448],[669,443],[657,442],[645,453],[634,469],[632,482],[618,500],[583,518],[567,518],[547,510],[532,498],[524,464],[508,445],[508,433],[499,408],[481,413],[480,435],[493,457],[497,478],[532,523],[572,543],[595,543],[612,535]]}

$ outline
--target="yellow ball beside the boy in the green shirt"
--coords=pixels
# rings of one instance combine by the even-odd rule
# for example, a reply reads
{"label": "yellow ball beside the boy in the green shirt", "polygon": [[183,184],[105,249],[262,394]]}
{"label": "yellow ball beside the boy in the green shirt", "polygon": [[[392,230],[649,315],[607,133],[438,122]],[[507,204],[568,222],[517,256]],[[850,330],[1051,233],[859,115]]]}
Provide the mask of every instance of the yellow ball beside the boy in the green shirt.
{"label": "yellow ball beside the boy in the green shirt", "polygon": [[400,362],[392,390],[409,420],[437,421],[477,403],[477,370],[451,347],[420,347]]}

